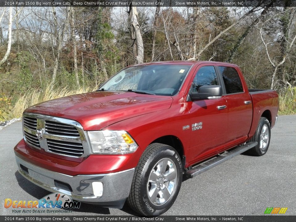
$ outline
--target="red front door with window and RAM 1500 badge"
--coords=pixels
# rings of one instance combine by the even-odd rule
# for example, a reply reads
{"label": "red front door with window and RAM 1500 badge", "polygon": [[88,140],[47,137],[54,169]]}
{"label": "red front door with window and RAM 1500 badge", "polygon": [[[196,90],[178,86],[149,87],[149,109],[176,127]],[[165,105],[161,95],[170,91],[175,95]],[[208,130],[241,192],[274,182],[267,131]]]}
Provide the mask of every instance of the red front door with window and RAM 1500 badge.
{"label": "red front door with window and RAM 1500 badge", "polygon": [[[217,70],[213,64],[197,68],[189,92],[197,92],[203,85],[219,85]],[[190,149],[194,159],[209,156],[226,142],[227,102],[225,98],[188,101],[191,131]]]}

